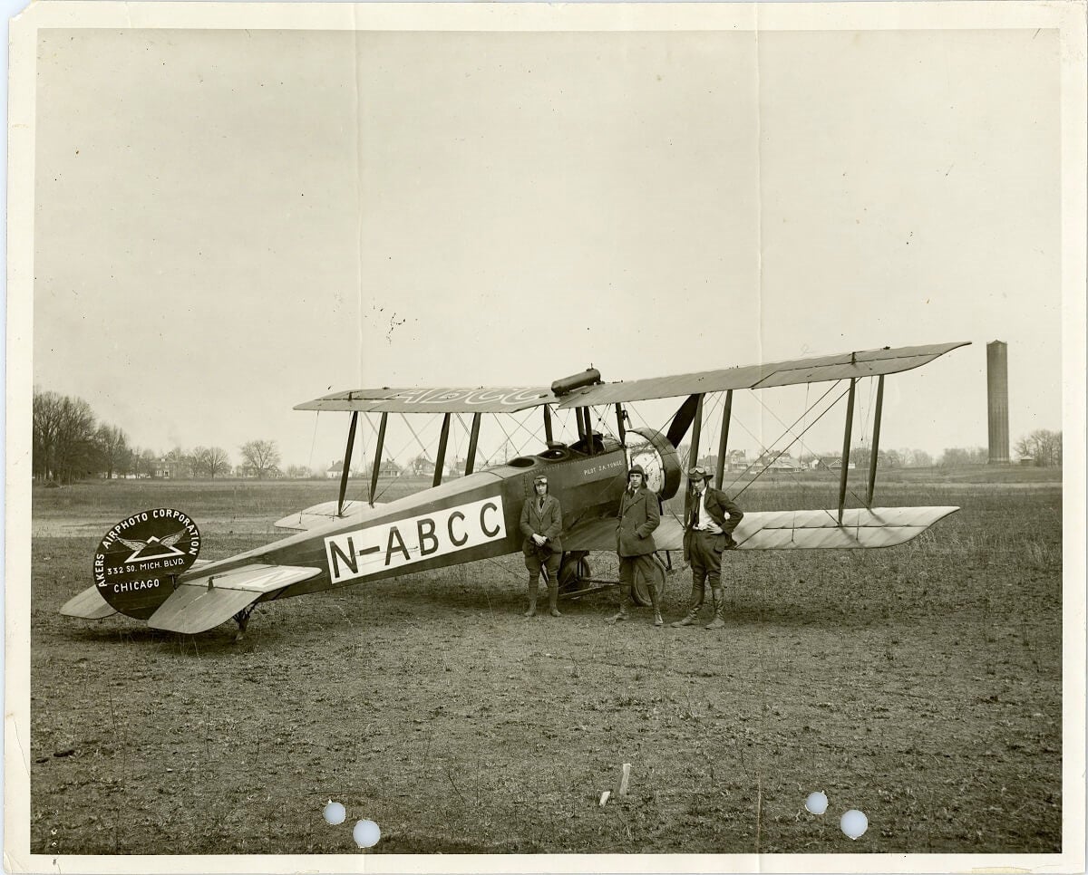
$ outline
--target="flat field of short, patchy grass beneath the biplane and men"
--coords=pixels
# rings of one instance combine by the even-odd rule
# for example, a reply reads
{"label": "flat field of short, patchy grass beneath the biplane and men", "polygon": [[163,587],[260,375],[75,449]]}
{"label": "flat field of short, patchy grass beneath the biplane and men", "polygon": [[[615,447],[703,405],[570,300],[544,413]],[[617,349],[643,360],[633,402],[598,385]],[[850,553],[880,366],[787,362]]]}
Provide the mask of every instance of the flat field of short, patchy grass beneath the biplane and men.
{"label": "flat field of short, patchy grass beneath the biplane and men", "polygon": [[[610,626],[611,590],[524,620],[510,557],[262,605],[240,645],[233,624],[183,637],[57,610],[133,510],[188,512],[215,559],[335,484],[36,487],[30,847],[351,852],[369,817],[374,852],[1059,851],[1062,502],[1044,474],[889,484],[878,504],[963,508],[899,548],[729,553],[716,633],[641,609]],[[741,503],[833,496],[761,483]],[[670,576],[667,621],[689,591]]]}

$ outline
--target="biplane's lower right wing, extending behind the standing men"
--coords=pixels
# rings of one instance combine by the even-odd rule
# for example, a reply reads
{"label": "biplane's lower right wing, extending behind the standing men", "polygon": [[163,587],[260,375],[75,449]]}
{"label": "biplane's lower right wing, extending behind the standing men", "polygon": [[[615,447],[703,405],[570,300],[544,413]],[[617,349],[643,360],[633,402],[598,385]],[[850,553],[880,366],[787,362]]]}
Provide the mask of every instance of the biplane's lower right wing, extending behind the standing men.
{"label": "biplane's lower right wing, extending behind the standing men", "polygon": [[[894,547],[917,537],[959,508],[851,508],[843,511],[753,511],[733,532],[740,550],[819,550]],[[663,516],[658,550],[683,549],[683,525]],[[566,550],[615,550],[616,521],[593,520],[562,534]]]}

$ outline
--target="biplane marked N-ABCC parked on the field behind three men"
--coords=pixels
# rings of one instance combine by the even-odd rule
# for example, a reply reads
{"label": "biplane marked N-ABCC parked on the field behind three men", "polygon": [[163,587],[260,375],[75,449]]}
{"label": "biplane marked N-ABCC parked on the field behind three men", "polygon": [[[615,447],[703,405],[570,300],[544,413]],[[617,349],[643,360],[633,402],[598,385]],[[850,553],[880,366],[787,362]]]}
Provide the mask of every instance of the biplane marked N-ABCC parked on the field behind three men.
{"label": "biplane marked N-ABCC parked on the field behind three men", "polygon": [[[724,480],[733,392],[802,384],[845,384],[845,424],[839,500],[834,508],[745,513],[733,532],[737,549],[866,549],[892,547],[925,532],[955,507],[873,507],[883,404],[883,380],[920,367],[966,343],[905,347],[757,364],[717,371],[604,383],[590,368],[556,380],[547,388],[379,388],[353,389],[298,404],[302,411],[350,413],[345,463],[335,501],[307,508],[276,525],[295,534],[228,559],[196,558],[200,536],[196,522],[172,509],[141,511],[110,529],[95,555],[95,584],[61,609],[67,616],[99,620],[114,613],[144,620],[153,628],[195,634],[232,618],[238,636],[261,603],[408,573],[426,572],[519,552],[519,516],[532,496],[533,478],[545,473],[549,490],[562,505],[561,591],[586,591],[602,585],[592,577],[586,558],[615,552],[616,513],[627,472],[640,464],[646,485],[664,503],[677,495],[684,464],[678,448],[689,437],[689,459],[700,458],[703,400],[724,399],[717,447],[716,482]],[[848,461],[858,380],[877,382],[865,507],[845,507]],[[827,395],[825,392],[825,395]],[[683,399],[663,429],[630,427],[626,405]],[[839,399],[836,399],[838,401]],[[481,418],[489,414],[541,410],[544,447],[475,471]],[[554,439],[553,416],[572,412],[578,438]],[[374,501],[383,443],[391,413],[441,415],[442,429],[430,488],[387,503]],[[347,500],[353,446],[360,414],[376,414],[376,450],[369,477],[369,500]],[[444,482],[450,417],[471,414],[468,455],[462,476]],[[596,418],[595,418],[596,416]],[[615,433],[597,426],[610,424]],[[611,432],[611,429],[608,429]],[[571,433],[570,437],[573,437]],[[798,436],[800,437],[800,435]],[[664,514],[654,539],[659,551],[681,549],[682,524]],[[640,578],[635,600],[648,603],[650,586]],[[615,582],[611,582],[615,583]]]}

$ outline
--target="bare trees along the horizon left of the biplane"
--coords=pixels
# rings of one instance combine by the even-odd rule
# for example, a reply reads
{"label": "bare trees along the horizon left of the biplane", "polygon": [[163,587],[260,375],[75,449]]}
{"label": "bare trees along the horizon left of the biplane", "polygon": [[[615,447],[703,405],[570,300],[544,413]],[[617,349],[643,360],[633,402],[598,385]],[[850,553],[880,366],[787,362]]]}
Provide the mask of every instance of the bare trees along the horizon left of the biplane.
{"label": "bare trees along the horizon left of the biplane", "polygon": [[[35,388],[32,421],[36,480],[69,484],[98,475],[110,479],[154,477],[160,466],[173,477],[184,471],[190,477],[214,479],[235,471],[222,447],[175,447],[160,455],[133,446],[122,428],[99,422],[82,398]],[[280,450],[274,440],[250,440],[239,453],[246,475],[258,479],[280,476]],[[288,468],[287,474],[298,476],[297,467]]]}

